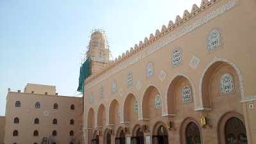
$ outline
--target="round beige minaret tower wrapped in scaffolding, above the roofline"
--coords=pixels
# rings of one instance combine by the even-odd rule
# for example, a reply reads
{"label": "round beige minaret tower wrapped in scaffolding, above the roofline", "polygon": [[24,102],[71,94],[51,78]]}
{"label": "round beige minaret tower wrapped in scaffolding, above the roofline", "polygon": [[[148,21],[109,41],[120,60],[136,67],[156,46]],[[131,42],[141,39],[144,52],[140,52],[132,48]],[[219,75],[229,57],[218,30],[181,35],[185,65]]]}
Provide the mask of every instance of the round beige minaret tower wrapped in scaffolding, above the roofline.
{"label": "round beige minaret tower wrapped in scaffolding, above the roofline", "polygon": [[86,59],[89,58],[90,74],[99,72],[105,68],[111,60],[109,60],[108,41],[104,32],[100,29],[95,30],[91,35],[91,40],[86,52]]}

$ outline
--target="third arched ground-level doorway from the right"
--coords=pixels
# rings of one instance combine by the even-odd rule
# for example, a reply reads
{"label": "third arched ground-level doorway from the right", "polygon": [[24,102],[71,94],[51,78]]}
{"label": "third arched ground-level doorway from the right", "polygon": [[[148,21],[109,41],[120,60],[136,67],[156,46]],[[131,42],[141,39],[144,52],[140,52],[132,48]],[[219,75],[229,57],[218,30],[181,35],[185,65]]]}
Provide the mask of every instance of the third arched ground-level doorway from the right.
{"label": "third arched ground-level doorway from the right", "polygon": [[157,136],[152,136],[153,144],[168,144],[168,131],[164,125],[157,129]]}

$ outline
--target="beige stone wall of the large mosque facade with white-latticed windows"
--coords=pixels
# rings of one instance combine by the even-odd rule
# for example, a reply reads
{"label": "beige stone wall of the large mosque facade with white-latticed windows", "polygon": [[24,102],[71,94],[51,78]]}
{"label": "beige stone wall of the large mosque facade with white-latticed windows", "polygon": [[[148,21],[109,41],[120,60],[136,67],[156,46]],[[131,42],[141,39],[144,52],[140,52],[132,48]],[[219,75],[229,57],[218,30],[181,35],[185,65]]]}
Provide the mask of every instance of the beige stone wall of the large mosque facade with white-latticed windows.
{"label": "beige stone wall of the large mosque facade with white-latticed windows", "polygon": [[[230,1],[210,1],[203,4],[199,10],[194,10],[191,15],[187,15],[188,17],[177,20],[178,22],[174,25],[171,24],[172,26],[157,33],[153,38],[149,38],[148,42],[140,44],[140,47],[135,47],[99,74],[86,79],[84,90],[85,143],[91,143],[91,140],[96,138],[93,134],[98,130],[104,133],[108,129],[113,129],[111,143],[114,143],[122,127],[129,128],[129,132],[125,135],[127,137],[136,136],[136,131],[141,125],[148,125],[148,131],[144,132],[145,140],[145,136],[152,138],[156,135],[159,127],[166,126],[168,121],[172,121],[176,129],[176,131],[168,131],[169,142],[186,143],[186,127],[190,122],[195,122],[200,129],[202,143],[225,143],[223,125],[233,116],[239,118],[246,126],[248,143],[255,141],[256,120],[253,113],[256,110],[248,108],[249,104],[255,106],[256,100],[254,88],[256,65],[253,64],[253,61],[256,61],[256,2],[253,0],[237,1],[236,6],[221,13],[218,17],[148,54],[136,63],[125,66],[117,73],[111,73],[148,52],[155,45],[168,40],[170,36],[182,31],[196,20],[207,17],[207,14],[228,2]],[[215,27],[221,29],[223,48],[207,53],[205,41],[209,31]],[[182,50],[182,65],[172,68],[171,56],[173,49],[177,47]],[[189,65],[193,56],[200,59],[196,68]],[[154,63],[154,76],[147,78],[146,67],[150,61]],[[159,79],[162,70],[166,73],[163,81]],[[127,86],[129,72],[132,72],[132,86]],[[233,77],[234,92],[221,94],[220,79],[223,74],[230,74]],[[115,93],[111,92],[113,81],[116,81]],[[136,87],[138,81],[142,83],[140,90]],[[104,99],[99,98],[101,86],[104,87]],[[182,102],[184,86],[191,88],[191,102]],[[93,93],[92,102],[90,102],[90,93]],[[157,94],[162,97],[161,109],[156,109],[154,106],[154,98]],[[107,95],[108,99],[106,99]],[[134,113],[136,100],[139,104],[138,114]],[[99,109],[102,106],[107,113],[106,125],[93,127],[97,125],[99,117],[97,113],[104,115],[104,110]],[[120,118],[117,116],[119,106],[121,108]],[[202,127],[201,116],[207,117],[211,127]],[[100,143],[106,143],[104,138],[106,138],[104,135],[99,137]]]}

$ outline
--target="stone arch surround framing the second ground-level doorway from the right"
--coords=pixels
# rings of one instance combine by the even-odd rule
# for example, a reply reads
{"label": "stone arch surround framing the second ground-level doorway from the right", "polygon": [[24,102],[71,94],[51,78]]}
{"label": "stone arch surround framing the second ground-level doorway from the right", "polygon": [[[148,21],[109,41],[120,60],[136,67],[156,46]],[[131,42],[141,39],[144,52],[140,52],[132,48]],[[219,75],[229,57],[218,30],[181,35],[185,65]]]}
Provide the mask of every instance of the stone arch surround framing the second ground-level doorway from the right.
{"label": "stone arch surround framing the second ground-level doorway from the right", "polygon": [[[200,127],[200,124],[197,122],[197,120],[195,118],[189,116],[189,117],[184,118],[184,120],[182,120],[182,122],[180,124],[180,131],[179,131],[180,144],[186,143],[186,129],[191,122],[193,122],[197,125],[197,127],[200,131],[200,138],[203,138],[202,137],[202,129]],[[201,139],[201,141],[202,141],[202,139]]]}

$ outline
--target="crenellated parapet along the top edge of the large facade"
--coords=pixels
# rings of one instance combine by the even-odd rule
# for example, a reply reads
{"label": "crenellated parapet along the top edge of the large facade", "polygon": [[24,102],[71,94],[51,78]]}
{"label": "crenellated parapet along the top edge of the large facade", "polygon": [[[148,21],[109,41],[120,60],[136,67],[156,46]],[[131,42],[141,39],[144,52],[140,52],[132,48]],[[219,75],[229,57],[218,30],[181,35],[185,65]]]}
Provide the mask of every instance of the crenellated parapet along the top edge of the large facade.
{"label": "crenellated parapet along the top edge of the large facade", "polygon": [[134,48],[131,47],[130,51],[126,51],[125,53],[122,54],[122,56],[118,56],[118,58],[115,58],[115,61],[112,61],[111,63],[109,63],[108,67],[100,70],[100,72],[98,72],[97,74],[93,74],[92,76],[88,77],[88,79],[86,79],[85,81],[85,84],[90,83],[91,81],[93,81],[93,79],[96,79],[97,77],[101,76],[111,68],[114,68],[116,65],[122,63],[122,61],[126,60],[127,58],[141,51],[148,45],[154,43],[156,40],[158,40],[159,38],[162,38],[164,35],[168,35],[170,32],[174,31],[176,28],[183,25],[188,20],[193,19],[193,17],[203,12],[213,4],[218,3],[218,1],[221,1],[221,0],[211,0],[211,1],[202,0],[202,3],[200,4],[200,8],[198,8],[196,4],[193,4],[190,13],[188,12],[188,10],[184,10],[182,18],[179,15],[177,15],[175,19],[175,23],[173,23],[173,21],[170,20],[168,22],[167,28],[166,26],[163,25],[161,28],[161,31],[159,31],[159,29],[156,29],[155,35],[150,33],[150,36],[148,38],[145,37],[143,41],[139,42],[139,44],[135,44]]}

